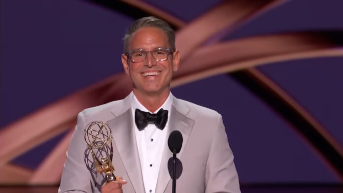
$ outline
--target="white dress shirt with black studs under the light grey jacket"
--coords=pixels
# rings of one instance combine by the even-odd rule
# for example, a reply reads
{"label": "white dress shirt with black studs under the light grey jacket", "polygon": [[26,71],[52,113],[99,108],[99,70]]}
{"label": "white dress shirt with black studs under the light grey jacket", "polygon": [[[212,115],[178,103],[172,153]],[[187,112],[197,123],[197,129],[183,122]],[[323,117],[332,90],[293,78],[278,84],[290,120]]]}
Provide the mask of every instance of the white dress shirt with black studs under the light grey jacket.
{"label": "white dress shirt with black studs under the light grey jacket", "polygon": [[134,124],[145,193],[155,193],[157,177],[161,165],[162,153],[167,137],[166,135],[172,104],[171,96],[172,95],[170,93],[167,100],[155,112],[150,112],[149,110],[147,110],[137,100],[135,95],[132,95],[131,97],[131,107],[134,123],[136,109],[150,113],[157,113],[161,108],[163,108],[164,110],[168,110],[168,121],[166,127],[163,130],[158,129],[154,124],[148,124],[148,126],[145,129],[139,131],[136,124]]}

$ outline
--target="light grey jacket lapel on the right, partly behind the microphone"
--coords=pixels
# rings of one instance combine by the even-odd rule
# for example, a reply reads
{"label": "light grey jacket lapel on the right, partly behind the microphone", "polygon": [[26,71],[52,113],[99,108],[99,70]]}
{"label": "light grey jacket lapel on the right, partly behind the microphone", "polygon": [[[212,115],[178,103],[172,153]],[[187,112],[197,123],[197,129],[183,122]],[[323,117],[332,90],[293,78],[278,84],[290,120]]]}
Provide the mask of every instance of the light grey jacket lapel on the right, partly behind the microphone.
{"label": "light grey jacket lapel on the right, partly behind the microphone", "polygon": [[[186,115],[189,113],[189,109],[182,104],[182,101],[173,97],[173,105],[171,107],[171,116],[169,118],[169,125],[167,130],[166,142],[164,145],[162,161],[160,165],[159,175],[157,178],[156,193],[163,193],[167,188],[168,182],[171,180],[171,176],[168,171],[168,160],[172,157],[172,153],[168,147],[168,138],[173,130],[179,130],[182,134],[183,143],[180,153],[176,155],[180,159],[184,147],[187,143],[188,137],[193,129],[194,120],[188,118]],[[180,159],[181,160],[181,159]],[[182,160],[181,160],[182,161]]]}

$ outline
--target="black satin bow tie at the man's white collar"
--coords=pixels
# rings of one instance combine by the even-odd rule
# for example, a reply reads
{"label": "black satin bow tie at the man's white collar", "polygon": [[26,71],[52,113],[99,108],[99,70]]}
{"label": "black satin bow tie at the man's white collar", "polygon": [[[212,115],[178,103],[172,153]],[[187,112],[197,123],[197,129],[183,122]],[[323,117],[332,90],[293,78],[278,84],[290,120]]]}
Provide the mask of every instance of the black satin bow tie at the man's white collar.
{"label": "black satin bow tie at the man's white collar", "polygon": [[168,110],[162,108],[157,113],[135,111],[135,123],[138,130],[143,130],[148,124],[155,124],[158,129],[164,129],[168,120]]}

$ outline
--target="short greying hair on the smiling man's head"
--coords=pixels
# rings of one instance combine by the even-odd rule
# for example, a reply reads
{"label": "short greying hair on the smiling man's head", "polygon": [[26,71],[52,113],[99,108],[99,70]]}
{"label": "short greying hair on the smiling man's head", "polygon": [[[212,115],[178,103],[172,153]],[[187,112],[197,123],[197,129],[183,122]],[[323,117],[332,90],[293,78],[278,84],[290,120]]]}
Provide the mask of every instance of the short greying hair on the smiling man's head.
{"label": "short greying hair on the smiling man's head", "polygon": [[140,28],[145,27],[153,27],[161,29],[168,38],[168,43],[171,46],[171,50],[175,51],[175,32],[174,30],[168,25],[167,22],[158,19],[156,17],[143,17],[138,20],[136,20],[132,26],[127,30],[126,34],[124,35],[124,54],[127,54],[129,52],[128,47],[130,40],[132,38],[132,34],[139,30]]}

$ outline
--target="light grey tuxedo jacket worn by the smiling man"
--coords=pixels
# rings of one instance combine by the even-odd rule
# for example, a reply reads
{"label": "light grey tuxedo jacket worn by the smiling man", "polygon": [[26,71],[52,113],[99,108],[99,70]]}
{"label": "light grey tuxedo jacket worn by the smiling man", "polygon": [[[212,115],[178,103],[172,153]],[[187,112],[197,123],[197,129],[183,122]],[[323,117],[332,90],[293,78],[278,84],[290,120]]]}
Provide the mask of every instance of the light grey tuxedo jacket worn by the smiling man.
{"label": "light grey tuxedo jacket worn by the smiling man", "polygon": [[[75,132],[67,151],[60,192],[101,192],[104,175],[95,172],[84,140],[84,129],[93,121],[103,121],[113,135],[113,160],[116,176],[127,180],[124,193],[144,193],[129,96],[78,114]],[[177,158],[182,172],[176,181],[177,193],[240,193],[234,156],[229,147],[222,117],[205,107],[173,97],[167,137],[173,130],[182,133],[183,143]],[[171,193],[168,160],[172,153],[168,139],[164,145],[156,193]]]}

